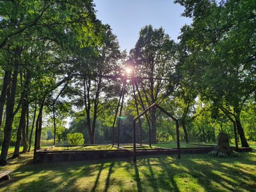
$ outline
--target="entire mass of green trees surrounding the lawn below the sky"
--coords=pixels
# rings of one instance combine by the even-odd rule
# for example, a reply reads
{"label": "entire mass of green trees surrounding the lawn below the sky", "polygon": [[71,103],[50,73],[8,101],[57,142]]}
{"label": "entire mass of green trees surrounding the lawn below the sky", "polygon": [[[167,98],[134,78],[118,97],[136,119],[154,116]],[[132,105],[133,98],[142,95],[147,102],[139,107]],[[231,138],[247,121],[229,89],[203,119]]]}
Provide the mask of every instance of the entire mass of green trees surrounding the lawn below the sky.
{"label": "entire mass of green trees surrounding the lawn below the sky", "polygon": [[[215,142],[220,131],[242,147],[256,141],[255,1],[175,3],[193,19],[179,42],[147,25],[127,54],[91,0],[1,1],[0,164],[10,145],[18,157],[20,145],[36,150],[52,137],[54,145],[67,144],[76,132],[79,144],[115,141],[125,67],[132,74],[119,117],[122,142],[132,140],[134,116],[155,102],[187,143]],[[176,139],[175,123],[156,108],[138,123],[143,142]]]}

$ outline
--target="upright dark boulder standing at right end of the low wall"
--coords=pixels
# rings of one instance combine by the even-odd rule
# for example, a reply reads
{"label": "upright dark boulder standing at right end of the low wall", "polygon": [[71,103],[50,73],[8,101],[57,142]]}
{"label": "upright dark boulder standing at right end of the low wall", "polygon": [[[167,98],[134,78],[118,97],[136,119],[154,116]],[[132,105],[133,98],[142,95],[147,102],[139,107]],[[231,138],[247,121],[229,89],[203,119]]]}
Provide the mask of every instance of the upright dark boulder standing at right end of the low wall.
{"label": "upright dark boulder standing at right end of the low wall", "polygon": [[232,148],[229,146],[228,134],[225,132],[220,132],[218,135],[218,145],[214,150],[228,155],[232,153]]}

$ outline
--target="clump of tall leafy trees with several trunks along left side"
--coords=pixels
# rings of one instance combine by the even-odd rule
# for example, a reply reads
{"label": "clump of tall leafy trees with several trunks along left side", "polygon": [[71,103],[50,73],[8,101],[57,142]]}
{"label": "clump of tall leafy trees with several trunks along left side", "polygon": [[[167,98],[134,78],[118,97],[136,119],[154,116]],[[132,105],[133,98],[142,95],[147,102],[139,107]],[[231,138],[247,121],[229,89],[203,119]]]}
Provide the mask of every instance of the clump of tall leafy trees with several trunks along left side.
{"label": "clump of tall leafy trees with several trunks along left side", "polygon": [[[18,77],[22,79],[25,76],[28,84],[32,86],[34,83],[40,84],[33,95],[36,95],[39,106],[36,138],[40,144],[45,100],[54,89],[74,76],[70,60],[74,59],[76,50],[98,44],[101,23],[95,17],[92,1],[4,1],[0,10],[0,60],[1,69],[4,70],[6,77],[0,99],[1,119],[7,97],[4,142],[0,159],[4,165],[12,134],[13,118],[20,106],[22,115],[17,132],[17,155],[21,130],[23,140],[27,134],[24,114],[29,109],[28,98],[31,95],[28,91],[29,86],[19,86]],[[17,87],[20,87],[20,90],[17,90]],[[15,102],[17,98],[20,102]],[[15,106],[17,108],[14,111]]]}

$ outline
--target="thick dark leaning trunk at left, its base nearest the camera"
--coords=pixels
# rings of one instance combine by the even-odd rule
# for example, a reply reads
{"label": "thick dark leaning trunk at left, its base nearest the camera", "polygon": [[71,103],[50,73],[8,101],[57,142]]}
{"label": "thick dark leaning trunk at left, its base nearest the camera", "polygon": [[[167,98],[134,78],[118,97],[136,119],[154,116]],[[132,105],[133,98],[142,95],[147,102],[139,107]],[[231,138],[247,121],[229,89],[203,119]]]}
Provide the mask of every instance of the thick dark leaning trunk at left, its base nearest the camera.
{"label": "thick dark leaning trunk at left, its base nearest the camera", "polygon": [[9,92],[7,94],[8,99],[6,102],[6,122],[4,126],[4,140],[1,150],[1,157],[0,157],[0,164],[2,166],[7,164],[7,154],[8,154],[8,148],[11,141],[12,136],[12,124],[13,124],[13,118],[14,118],[14,104],[15,104],[15,95],[16,95],[16,88],[17,88],[17,77],[18,77],[18,63],[15,63],[15,70],[13,72],[13,78],[12,78],[12,87],[8,87]]}

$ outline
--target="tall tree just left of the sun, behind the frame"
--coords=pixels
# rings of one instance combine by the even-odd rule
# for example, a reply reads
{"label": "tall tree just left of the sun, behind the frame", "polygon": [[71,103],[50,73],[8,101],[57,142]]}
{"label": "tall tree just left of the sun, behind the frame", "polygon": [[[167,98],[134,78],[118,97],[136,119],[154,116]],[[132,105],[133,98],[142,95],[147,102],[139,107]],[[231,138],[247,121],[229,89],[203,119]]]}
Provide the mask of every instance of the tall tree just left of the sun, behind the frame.
{"label": "tall tree just left of the sun, behind the frame", "polygon": [[[90,136],[90,143],[95,143],[95,129],[97,118],[110,108],[115,100],[116,91],[119,84],[111,79],[104,79],[106,75],[113,75],[118,71],[118,61],[122,58],[119,51],[118,41],[113,35],[109,26],[105,26],[102,33],[101,44],[93,50],[84,50],[84,55],[90,54],[91,57],[81,60],[78,63],[79,81],[76,84],[75,100],[77,106],[84,109],[86,114],[86,124]],[[84,70],[87,65],[89,70]],[[83,105],[83,106],[82,106]]]}

